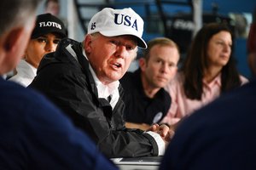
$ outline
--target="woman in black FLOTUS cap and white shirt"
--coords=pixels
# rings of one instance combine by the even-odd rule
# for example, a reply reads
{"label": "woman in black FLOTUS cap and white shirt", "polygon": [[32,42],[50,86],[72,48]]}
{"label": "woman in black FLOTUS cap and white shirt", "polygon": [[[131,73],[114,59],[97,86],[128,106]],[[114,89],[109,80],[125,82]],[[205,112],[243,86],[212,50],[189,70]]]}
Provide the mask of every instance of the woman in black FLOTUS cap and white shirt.
{"label": "woman in black FLOTUS cap and white shirt", "polygon": [[27,87],[37,75],[38,65],[44,54],[54,52],[58,42],[64,37],[67,37],[67,34],[61,20],[52,14],[39,14],[24,59],[20,60],[16,67],[17,73],[10,77],[9,81]]}

